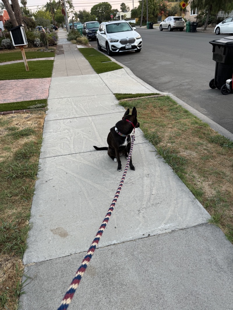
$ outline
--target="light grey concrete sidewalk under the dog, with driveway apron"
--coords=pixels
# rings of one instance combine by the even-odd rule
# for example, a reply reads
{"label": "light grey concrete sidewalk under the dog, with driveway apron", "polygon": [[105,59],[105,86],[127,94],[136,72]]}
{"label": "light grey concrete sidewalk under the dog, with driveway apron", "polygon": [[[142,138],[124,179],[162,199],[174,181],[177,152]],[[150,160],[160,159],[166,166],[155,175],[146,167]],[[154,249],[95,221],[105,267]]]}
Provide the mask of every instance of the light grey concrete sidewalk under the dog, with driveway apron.
{"label": "light grey concrete sidewalk under the dog, with driveway apron", "polygon": [[[107,146],[124,114],[113,94],[159,92],[127,68],[96,74],[66,32],[58,35],[23,310],[58,308],[120,183],[123,170],[93,148]],[[127,172],[69,309],[232,309],[232,244],[142,131],[135,133],[135,171]]]}

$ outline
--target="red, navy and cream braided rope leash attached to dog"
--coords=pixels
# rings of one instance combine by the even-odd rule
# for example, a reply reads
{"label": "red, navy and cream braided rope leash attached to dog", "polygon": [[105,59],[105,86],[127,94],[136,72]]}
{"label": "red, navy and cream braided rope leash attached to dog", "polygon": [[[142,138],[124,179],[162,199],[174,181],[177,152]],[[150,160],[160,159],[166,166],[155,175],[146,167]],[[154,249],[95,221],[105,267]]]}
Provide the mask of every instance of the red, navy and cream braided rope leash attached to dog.
{"label": "red, navy and cream braided rope leash attached to dog", "polygon": [[127,160],[127,163],[126,163],[126,167],[125,167],[125,171],[122,175],[122,178],[121,178],[121,182],[119,184],[119,187],[117,188],[117,192],[115,194],[115,197],[110,205],[110,208],[108,209],[107,211],[107,214],[105,215],[105,218],[103,219],[103,222],[94,238],[94,240],[92,241],[92,244],[91,246],[89,247],[89,250],[87,251],[87,254],[86,256],[84,257],[83,261],[82,261],[82,264],[81,266],[79,267],[79,269],[77,270],[76,274],[75,274],[75,277],[73,278],[72,282],[71,282],[71,285],[70,287],[68,288],[64,298],[62,299],[62,302],[59,306],[59,308],[57,308],[57,310],[64,310],[64,309],[67,309],[69,307],[69,304],[71,303],[71,300],[72,298],[74,297],[74,294],[75,294],[75,291],[77,290],[78,286],[79,286],[79,283],[84,275],[84,272],[94,254],[94,251],[96,249],[96,246],[98,245],[98,242],[101,238],[101,236],[103,235],[103,231],[104,229],[106,228],[107,226],[107,222],[110,218],[110,216],[112,215],[112,211],[114,209],[114,206],[117,202],[117,198],[119,197],[119,194],[120,194],[120,191],[121,191],[121,188],[123,186],[123,183],[124,183],[124,180],[125,180],[125,177],[126,177],[126,172],[128,170],[128,167],[129,167],[129,163],[130,163],[130,159],[131,159],[131,155],[132,155],[132,151],[133,151],[133,145],[134,145],[134,140],[135,140],[135,135],[133,133],[133,135],[131,136],[132,137],[132,142],[131,142],[131,146],[130,146],[130,153],[128,155],[128,160]]}

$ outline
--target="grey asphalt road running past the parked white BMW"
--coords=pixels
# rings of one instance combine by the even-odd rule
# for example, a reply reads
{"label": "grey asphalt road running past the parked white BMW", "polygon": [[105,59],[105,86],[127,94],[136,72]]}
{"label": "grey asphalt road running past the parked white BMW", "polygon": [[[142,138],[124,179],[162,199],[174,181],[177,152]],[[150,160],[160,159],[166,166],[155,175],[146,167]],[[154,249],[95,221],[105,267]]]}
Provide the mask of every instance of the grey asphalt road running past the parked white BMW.
{"label": "grey asphalt road running past the parked white BMW", "polygon": [[[209,87],[215,73],[209,41],[228,35],[140,28],[137,32],[143,39],[142,51],[112,57],[154,88],[172,93],[233,133],[233,94],[222,95]],[[90,44],[97,47],[96,41]]]}

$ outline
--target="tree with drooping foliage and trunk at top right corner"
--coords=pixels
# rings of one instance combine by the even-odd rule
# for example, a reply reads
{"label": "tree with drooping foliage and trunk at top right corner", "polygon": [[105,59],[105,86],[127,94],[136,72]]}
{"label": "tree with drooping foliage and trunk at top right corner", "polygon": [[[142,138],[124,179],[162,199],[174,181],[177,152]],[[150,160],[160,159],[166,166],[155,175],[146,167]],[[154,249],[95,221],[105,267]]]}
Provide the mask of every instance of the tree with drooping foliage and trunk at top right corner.
{"label": "tree with drooping foliage and trunk at top right corner", "polygon": [[208,20],[210,14],[217,14],[219,11],[231,11],[233,10],[232,0],[193,0],[191,2],[191,9],[198,8],[199,12],[204,12],[206,16],[206,21],[204,24],[204,30],[208,25]]}

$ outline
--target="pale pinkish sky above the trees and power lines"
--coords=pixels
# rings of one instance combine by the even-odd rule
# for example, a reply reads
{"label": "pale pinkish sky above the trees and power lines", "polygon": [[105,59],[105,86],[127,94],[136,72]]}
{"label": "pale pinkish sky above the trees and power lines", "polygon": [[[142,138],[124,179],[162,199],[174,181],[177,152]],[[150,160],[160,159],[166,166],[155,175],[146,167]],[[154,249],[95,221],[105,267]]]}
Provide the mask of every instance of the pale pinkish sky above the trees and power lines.
{"label": "pale pinkish sky above the trees and power lines", "polygon": [[[0,0],[1,1],[1,0]],[[19,1],[20,2],[20,1]],[[44,4],[46,4],[47,0],[27,0],[27,7],[30,10],[35,10],[37,7],[41,8]],[[49,0],[48,0],[49,2]],[[130,7],[130,10],[134,7],[138,6],[138,0],[73,0],[73,4],[75,7],[75,11],[80,11],[86,9],[90,11],[91,8],[100,2],[109,2],[112,5],[113,9],[118,9],[120,11],[121,3],[124,2],[127,6]]]}

